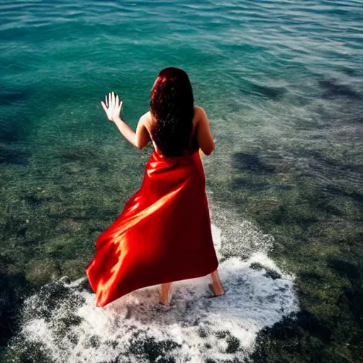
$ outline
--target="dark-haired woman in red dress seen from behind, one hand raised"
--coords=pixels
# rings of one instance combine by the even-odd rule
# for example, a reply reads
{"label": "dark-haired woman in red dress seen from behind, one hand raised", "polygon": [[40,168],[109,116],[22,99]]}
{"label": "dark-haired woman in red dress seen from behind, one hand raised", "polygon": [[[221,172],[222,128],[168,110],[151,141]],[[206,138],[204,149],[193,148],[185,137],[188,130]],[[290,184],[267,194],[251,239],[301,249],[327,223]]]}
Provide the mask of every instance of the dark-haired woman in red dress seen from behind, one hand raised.
{"label": "dark-haired woman in red dress seen from behind, one hand raised", "polygon": [[155,151],[140,190],[96,240],[86,272],[97,306],[155,284],[162,284],[160,303],[167,306],[172,281],[210,273],[213,294],[225,294],[199,156],[199,148],[210,155],[214,142],[206,113],[194,106],[186,72],[162,69],[152,86],[150,111],[140,117],[136,133],[120,118],[118,96],[108,94],[101,105],[126,140],[138,149],[151,141]]}

